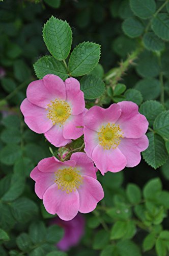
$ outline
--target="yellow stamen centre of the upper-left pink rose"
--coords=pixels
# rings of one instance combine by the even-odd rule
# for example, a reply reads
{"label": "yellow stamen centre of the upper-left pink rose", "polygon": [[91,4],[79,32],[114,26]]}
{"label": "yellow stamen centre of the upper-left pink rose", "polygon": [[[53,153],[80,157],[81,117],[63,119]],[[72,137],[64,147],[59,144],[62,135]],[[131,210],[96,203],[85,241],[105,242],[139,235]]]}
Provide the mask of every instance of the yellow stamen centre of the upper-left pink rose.
{"label": "yellow stamen centre of the upper-left pink rose", "polygon": [[53,124],[64,124],[71,114],[71,108],[68,102],[65,100],[55,99],[50,101],[48,104],[48,114],[47,117],[52,121]]}

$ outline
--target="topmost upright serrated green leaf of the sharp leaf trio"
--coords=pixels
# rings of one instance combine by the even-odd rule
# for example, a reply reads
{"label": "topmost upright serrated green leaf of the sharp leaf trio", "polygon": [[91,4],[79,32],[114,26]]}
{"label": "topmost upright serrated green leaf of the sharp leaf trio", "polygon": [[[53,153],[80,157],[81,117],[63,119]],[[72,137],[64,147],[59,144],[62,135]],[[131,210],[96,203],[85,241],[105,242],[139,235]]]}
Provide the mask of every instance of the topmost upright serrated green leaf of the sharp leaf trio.
{"label": "topmost upright serrated green leaf of the sharp leaf trio", "polygon": [[69,24],[53,16],[43,27],[43,39],[51,55],[58,59],[66,59],[72,45],[72,30]]}

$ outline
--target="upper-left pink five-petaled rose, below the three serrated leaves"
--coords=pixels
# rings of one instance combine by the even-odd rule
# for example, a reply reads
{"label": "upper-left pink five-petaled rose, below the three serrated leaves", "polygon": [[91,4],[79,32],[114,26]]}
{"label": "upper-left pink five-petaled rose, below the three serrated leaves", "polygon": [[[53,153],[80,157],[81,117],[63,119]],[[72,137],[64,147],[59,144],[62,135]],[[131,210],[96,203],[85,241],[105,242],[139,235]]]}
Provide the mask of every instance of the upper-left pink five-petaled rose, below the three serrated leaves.
{"label": "upper-left pink five-petaled rose, below the three serrated leaves", "polygon": [[36,133],[44,133],[54,146],[65,146],[83,134],[85,99],[75,78],[65,82],[46,75],[29,84],[20,109],[25,123]]}

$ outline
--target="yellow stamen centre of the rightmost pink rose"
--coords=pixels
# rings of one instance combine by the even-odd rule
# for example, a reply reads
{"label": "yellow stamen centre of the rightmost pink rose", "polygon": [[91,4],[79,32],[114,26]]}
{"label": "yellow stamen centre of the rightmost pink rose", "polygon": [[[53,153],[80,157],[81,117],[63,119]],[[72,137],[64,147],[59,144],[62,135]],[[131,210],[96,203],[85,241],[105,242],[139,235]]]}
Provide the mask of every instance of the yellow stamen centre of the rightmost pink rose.
{"label": "yellow stamen centre of the rightmost pink rose", "polygon": [[104,150],[110,150],[110,148],[116,148],[123,138],[122,129],[119,124],[108,123],[106,126],[102,125],[100,132],[98,132],[99,144]]}

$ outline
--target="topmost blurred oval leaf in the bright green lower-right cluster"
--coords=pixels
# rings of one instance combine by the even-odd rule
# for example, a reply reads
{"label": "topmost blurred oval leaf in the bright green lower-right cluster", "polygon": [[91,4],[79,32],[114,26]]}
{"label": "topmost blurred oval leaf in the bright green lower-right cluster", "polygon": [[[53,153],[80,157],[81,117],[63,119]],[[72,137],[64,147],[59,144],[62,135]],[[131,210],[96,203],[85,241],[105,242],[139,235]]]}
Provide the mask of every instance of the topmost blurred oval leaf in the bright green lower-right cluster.
{"label": "topmost blurred oval leaf in the bright green lower-right cluster", "polygon": [[154,200],[162,189],[162,183],[159,178],[148,181],[143,189],[144,198]]}

